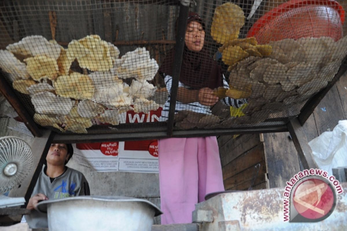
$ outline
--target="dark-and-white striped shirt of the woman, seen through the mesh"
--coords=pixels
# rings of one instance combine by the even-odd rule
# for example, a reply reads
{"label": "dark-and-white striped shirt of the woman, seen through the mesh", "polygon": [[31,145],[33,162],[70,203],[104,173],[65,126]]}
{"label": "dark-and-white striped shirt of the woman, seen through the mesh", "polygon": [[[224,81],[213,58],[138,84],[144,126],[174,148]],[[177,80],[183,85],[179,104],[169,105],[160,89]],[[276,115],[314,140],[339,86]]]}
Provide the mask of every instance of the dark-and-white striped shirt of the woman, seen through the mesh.
{"label": "dark-and-white striped shirt of the woman, seen through the mesh", "polygon": [[[166,101],[166,103],[163,106],[163,110],[161,112],[161,117],[159,118],[159,121],[167,121],[167,119],[169,118],[170,92],[171,92],[171,85],[172,85],[172,77],[170,75],[166,75],[164,81],[166,84],[166,89],[169,92],[169,96],[168,96],[168,100]],[[189,89],[189,86],[184,85],[181,82],[178,82],[178,87],[184,87],[184,88]],[[227,81],[225,80],[224,75],[223,75],[223,87],[229,88],[229,85],[228,85]],[[247,103],[246,99],[233,99],[230,97],[223,98],[223,99],[221,99],[221,101],[223,104],[225,104],[227,106],[236,107],[236,108],[239,108],[243,104]],[[205,106],[205,105],[202,105],[198,102],[183,104],[180,101],[176,101],[175,113],[177,113],[181,110],[189,110],[192,112],[202,113],[202,114],[206,114],[206,115],[212,114],[210,106]]]}

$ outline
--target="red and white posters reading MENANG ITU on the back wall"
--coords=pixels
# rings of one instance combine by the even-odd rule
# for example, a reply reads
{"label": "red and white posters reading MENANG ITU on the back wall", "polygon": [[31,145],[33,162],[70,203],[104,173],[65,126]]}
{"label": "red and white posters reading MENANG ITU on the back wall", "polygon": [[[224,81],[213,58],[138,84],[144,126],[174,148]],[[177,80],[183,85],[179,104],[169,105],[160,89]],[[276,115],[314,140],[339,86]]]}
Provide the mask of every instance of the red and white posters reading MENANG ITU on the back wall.
{"label": "red and white posters reading MENANG ITU on the back wall", "polygon": [[158,172],[158,141],[74,144],[77,161],[96,171]]}

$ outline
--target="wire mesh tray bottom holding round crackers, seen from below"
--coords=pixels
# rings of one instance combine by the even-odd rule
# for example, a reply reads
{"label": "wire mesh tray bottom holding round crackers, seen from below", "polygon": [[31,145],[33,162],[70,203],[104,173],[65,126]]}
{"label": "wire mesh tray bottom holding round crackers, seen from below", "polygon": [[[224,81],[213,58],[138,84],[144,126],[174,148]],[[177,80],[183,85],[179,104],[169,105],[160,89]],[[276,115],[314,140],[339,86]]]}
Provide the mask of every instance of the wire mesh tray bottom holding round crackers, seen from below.
{"label": "wire mesh tray bottom holding round crackers, seen from below", "polygon": [[172,91],[175,130],[282,124],[345,65],[346,3],[2,1],[1,78],[60,132],[165,128]]}

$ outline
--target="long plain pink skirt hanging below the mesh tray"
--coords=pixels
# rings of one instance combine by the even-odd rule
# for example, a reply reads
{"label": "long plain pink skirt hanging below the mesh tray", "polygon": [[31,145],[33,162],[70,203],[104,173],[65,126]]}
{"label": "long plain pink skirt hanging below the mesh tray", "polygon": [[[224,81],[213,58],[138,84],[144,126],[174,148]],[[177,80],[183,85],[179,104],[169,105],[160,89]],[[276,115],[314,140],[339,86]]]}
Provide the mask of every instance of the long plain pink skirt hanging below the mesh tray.
{"label": "long plain pink skirt hanging below the mesh tray", "polygon": [[162,139],[158,148],[161,224],[191,223],[195,204],[224,190],[217,139]]}

